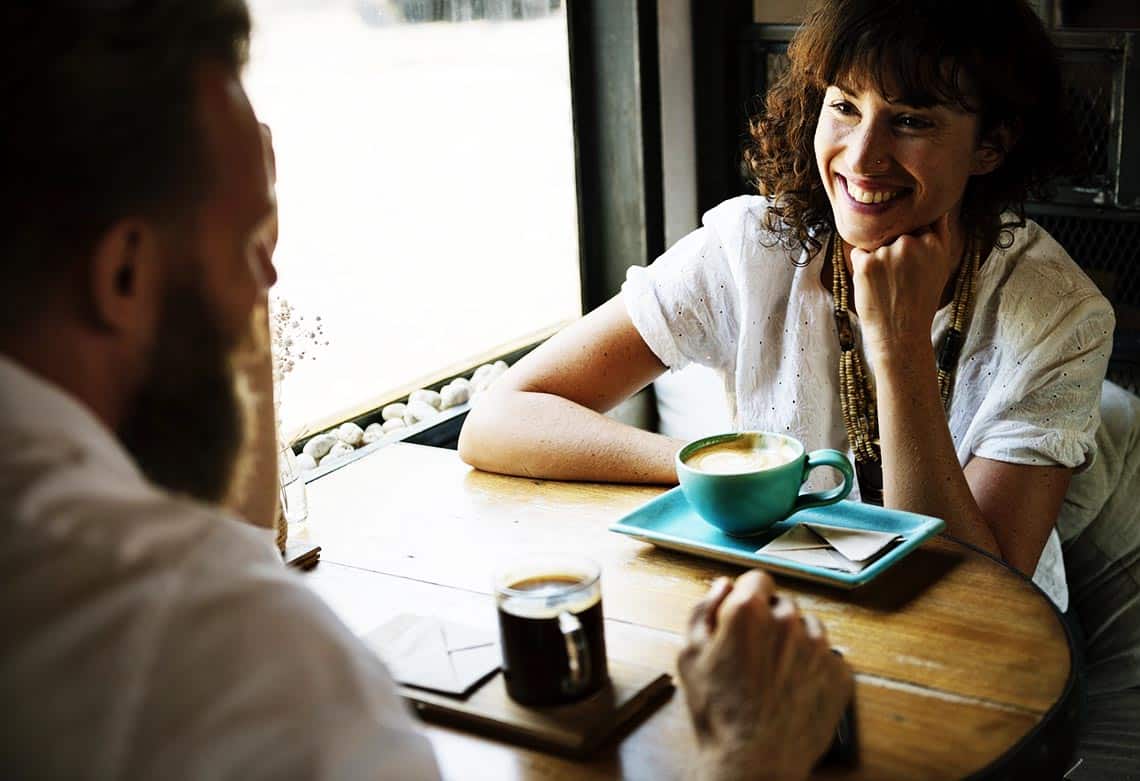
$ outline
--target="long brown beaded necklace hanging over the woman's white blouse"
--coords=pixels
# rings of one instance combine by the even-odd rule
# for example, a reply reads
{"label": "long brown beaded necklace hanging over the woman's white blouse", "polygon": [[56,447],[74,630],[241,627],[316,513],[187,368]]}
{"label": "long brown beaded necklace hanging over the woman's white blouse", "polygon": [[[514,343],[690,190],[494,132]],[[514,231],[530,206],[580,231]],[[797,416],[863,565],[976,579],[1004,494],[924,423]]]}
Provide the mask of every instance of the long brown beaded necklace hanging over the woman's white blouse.
{"label": "long brown beaded necklace hanging over the woman's white blouse", "polygon": [[[839,406],[847,426],[847,440],[855,454],[860,494],[868,504],[882,505],[882,454],[879,448],[879,410],[874,389],[868,377],[863,356],[855,349],[855,331],[848,311],[850,280],[844,262],[844,243],[831,236],[831,295],[834,301],[836,330],[839,334]],[[938,349],[938,392],[950,414],[954,371],[969,327],[980,242],[968,242],[958,265],[950,328]]]}

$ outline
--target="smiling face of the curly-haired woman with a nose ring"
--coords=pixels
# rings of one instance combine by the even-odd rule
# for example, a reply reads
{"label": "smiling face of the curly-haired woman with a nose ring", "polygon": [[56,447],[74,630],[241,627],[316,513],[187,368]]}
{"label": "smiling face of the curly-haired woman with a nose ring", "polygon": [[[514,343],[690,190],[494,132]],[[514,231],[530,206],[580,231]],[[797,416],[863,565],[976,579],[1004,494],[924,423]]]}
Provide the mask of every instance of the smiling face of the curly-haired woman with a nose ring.
{"label": "smiling face of the curly-haired woman with a nose ring", "polygon": [[946,212],[951,230],[959,230],[966,184],[988,170],[977,137],[977,115],[956,107],[914,108],[872,88],[829,87],[815,162],[839,235],[874,250]]}

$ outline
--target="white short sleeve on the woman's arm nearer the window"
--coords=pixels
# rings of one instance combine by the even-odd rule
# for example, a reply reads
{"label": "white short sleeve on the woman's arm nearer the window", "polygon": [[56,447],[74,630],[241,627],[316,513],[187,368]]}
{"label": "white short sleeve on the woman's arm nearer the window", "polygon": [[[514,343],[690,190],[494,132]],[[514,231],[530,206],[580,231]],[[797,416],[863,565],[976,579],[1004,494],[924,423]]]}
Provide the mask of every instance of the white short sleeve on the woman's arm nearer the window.
{"label": "white short sleeve on the woman's arm nearer the window", "polygon": [[715,230],[699,228],[649,267],[632,267],[621,295],[634,327],[662,364],[732,371],[739,292]]}

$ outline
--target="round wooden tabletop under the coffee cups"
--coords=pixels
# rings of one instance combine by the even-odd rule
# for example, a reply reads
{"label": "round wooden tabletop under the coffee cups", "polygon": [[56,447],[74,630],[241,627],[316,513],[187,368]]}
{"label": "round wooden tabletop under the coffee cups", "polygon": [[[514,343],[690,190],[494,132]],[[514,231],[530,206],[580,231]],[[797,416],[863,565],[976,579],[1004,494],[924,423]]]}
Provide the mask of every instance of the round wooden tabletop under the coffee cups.
{"label": "round wooden tabletop under the coffee cups", "polygon": [[[477,472],[451,450],[394,445],[309,485],[311,586],[359,634],[400,612],[494,626],[491,572],[527,552],[602,564],[611,657],[673,672],[691,607],[742,570],[608,531],[659,488]],[[856,670],[861,765],[819,778],[956,779],[1064,772],[1070,646],[1049,600],[1012,570],[935,539],[854,592],[780,578]],[[676,693],[588,763],[429,726],[453,779],[674,779],[694,752]],[[1033,770],[1025,770],[1027,766]]]}

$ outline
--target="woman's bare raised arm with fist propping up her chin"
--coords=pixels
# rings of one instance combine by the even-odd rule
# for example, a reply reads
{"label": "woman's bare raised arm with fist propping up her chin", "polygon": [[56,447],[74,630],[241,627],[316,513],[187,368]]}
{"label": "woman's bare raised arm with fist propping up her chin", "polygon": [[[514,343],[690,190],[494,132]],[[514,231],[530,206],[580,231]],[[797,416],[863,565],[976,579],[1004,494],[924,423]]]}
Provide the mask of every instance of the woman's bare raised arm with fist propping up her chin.
{"label": "woman's bare raised arm with fist propping up her chin", "polygon": [[874,356],[883,503],[943,518],[951,535],[1032,576],[1072,471],[987,458],[959,465],[930,344],[958,257],[948,225],[943,217],[917,236],[852,251],[864,347]]}

